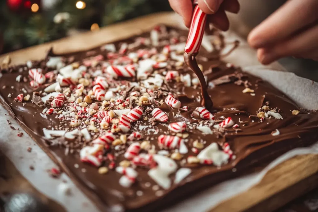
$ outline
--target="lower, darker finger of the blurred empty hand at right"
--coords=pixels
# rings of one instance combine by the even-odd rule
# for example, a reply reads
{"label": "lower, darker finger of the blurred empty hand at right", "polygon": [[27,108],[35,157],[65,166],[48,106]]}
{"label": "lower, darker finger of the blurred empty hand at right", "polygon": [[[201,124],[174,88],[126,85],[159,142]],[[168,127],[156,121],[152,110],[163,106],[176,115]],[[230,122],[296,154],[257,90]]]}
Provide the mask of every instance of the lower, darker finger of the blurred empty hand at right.
{"label": "lower, darker finger of the blurred empty hand at right", "polygon": [[279,42],[271,47],[261,48],[257,51],[259,61],[269,64],[281,57],[296,56],[316,57],[318,50],[318,25],[296,34],[294,37]]}

